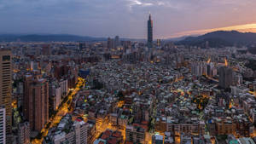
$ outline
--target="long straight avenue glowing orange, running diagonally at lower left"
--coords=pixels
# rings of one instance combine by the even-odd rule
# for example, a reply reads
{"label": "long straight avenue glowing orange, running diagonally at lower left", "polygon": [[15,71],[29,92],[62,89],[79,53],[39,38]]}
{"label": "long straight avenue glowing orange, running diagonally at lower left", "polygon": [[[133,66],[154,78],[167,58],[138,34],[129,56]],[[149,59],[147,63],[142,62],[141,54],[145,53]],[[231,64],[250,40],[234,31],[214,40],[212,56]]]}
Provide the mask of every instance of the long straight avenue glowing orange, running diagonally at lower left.
{"label": "long straight avenue glowing orange, running diagonally at lower left", "polygon": [[72,101],[73,100],[73,95],[76,95],[77,92],[80,90],[81,86],[84,86],[85,80],[83,78],[79,78],[79,82],[76,85],[76,88],[73,89],[70,95],[67,95],[67,101],[62,105],[62,107],[59,107],[57,114],[55,115],[54,118],[49,118],[49,128],[46,129],[46,124],[44,125],[44,129],[41,130],[43,136],[41,139],[35,139],[32,141],[32,144],[38,144],[38,143],[43,143],[44,137],[48,134],[48,130],[57,124],[60,123],[61,118],[67,114],[67,112],[71,112],[72,109],[68,110],[68,107],[71,107]]}

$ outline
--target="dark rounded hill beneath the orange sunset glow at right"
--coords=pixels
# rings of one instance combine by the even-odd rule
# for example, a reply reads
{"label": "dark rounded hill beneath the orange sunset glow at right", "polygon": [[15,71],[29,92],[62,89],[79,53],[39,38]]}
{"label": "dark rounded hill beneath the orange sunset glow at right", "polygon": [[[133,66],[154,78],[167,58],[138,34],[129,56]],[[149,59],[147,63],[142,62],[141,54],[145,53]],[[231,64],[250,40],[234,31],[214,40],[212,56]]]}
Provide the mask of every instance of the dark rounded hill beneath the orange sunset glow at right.
{"label": "dark rounded hill beneath the orange sunset glow at right", "polygon": [[256,43],[256,33],[236,32],[236,31],[217,31],[210,32],[199,37],[187,37],[177,42],[184,45],[195,45],[206,47],[224,47],[233,45],[247,45]]}

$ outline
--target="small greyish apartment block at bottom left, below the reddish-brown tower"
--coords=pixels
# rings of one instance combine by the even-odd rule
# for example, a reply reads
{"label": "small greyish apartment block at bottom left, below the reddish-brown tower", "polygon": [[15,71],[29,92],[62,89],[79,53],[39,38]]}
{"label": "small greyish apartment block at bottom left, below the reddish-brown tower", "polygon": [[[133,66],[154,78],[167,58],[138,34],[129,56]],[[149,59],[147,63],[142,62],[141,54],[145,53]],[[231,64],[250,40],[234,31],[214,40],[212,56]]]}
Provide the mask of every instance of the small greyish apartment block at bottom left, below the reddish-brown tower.
{"label": "small greyish apartment block at bottom left, below the reddish-brown tower", "polygon": [[19,144],[29,144],[30,143],[30,128],[29,123],[20,123],[18,127],[18,142]]}

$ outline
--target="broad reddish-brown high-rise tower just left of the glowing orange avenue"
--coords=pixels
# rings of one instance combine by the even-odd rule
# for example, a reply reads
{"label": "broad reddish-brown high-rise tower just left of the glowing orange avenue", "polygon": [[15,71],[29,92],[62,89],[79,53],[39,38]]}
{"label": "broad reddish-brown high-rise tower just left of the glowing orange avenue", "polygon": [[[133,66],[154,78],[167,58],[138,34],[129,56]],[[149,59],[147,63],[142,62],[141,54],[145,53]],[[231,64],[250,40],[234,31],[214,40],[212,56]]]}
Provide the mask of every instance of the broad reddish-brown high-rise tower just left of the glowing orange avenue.
{"label": "broad reddish-brown high-rise tower just left of the glowing orange avenue", "polygon": [[24,94],[24,116],[32,131],[41,131],[49,119],[48,82],[40,75],[26,75]]}

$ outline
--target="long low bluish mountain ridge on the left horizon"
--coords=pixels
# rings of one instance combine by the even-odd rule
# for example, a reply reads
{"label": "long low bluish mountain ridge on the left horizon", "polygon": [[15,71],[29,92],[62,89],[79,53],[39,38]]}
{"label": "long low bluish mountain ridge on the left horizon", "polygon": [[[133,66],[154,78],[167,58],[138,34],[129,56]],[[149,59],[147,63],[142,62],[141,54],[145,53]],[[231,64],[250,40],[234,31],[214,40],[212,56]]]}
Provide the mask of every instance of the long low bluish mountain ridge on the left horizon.
{"label": "long low bluish mountain ridge on the left horizon", "polygon": [[0,42],[77,42],[77,41],[105,41],[107,38],[105,37],[83,37],[76,35],[68,35],[68,34],[45,34],[45,35],[9,35],[3,34],[0,35]]}

